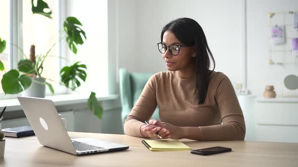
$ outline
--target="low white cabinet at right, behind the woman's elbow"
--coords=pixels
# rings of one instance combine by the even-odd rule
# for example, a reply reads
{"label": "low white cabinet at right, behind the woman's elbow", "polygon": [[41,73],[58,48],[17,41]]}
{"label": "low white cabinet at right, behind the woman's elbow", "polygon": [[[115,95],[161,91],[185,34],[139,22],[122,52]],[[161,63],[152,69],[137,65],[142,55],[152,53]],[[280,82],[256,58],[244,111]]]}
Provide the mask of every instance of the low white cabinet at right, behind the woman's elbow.
{"label": "low white cabinet at right, behind the woman's elbow", "polygon": [[298,98],[257,98],[257,141],[298,142]]}

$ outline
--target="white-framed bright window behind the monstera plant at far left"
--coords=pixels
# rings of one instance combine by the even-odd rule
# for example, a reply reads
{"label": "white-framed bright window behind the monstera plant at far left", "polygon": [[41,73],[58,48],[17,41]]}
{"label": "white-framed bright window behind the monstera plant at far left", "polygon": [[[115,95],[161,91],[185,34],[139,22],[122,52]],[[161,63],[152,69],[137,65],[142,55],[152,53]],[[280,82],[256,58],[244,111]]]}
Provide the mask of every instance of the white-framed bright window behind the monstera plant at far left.
{"label": "white-framed bright window behind the monstera plant at far left", "polygon": [[[65,87],[58,84],[60,81],[60,69],[62,60],[60,56],[59,31],[63,24],[60,17],[62,6],[61,1],[44,0],[52,10],[52,19],[41,15],[32,15],[30,0],[1,1],[0,16],[2,25],[0,26],[0,38],[6,40],[6,50],[0,54],[0,59],[5,65],[6,72],[17,68],[20,59],[28,58],[30,46],[35,45],[35,54],[45,54],[55,43],[55,47],[49,52],[44,62],[42,76],[55,80],[51,82],[55,89],[55,94],[65,94]],[[22,12],[20,12],[22,11]],[[61,29],[62,30],[62,29]],[[65,57],[65,56],[64,56]],[[0,72],[2,79],[4,72]],[[46,89],[46,95],[51,95]],[[6,95],[2,90],[0,82],[0,97],[2,99],[15,98],[16,95]]]}

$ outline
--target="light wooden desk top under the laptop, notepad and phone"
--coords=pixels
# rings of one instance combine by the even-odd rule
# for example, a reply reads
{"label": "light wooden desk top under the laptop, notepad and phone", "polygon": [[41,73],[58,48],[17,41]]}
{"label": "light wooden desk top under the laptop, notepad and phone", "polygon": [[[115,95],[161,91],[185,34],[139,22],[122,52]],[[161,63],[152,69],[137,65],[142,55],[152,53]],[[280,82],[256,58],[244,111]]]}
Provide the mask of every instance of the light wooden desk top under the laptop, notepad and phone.
{"label": "light wooden desk top under the laptop, notepad and phone", "polygon": [[129,145],[119,152],[75,156],[39,144],[35,136],[6,138],[0,166],[298,166],[298,143],[181,140],[192,149],[231,147],[232,152],[201,156],[189,151],[148,150],[142,138],[116,134],[69,132],[71,138],[94,137]]}

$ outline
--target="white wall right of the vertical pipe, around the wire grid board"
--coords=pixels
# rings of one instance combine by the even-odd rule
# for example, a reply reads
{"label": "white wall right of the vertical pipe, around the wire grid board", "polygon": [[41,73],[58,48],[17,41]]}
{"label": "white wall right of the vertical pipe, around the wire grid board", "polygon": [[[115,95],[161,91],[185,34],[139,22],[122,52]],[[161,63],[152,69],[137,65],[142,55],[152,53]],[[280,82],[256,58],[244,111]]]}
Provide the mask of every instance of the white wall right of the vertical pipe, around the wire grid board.
{"label": "white wall right of the vertical pipe, around the wire grid board", "polygon": [[[259,96],[262,96],[266,85],[274,85],[277,96],[282,96],[283,78],[287,74],[298,75],[298,65],[268,63],[268,13],[287,11],[298,11],[298,1],[247,1],[247,86]],[[290,22],[287,24],[293,24],[292,20],[287,21]],[[286,57],[292,56],[289,53]]]}

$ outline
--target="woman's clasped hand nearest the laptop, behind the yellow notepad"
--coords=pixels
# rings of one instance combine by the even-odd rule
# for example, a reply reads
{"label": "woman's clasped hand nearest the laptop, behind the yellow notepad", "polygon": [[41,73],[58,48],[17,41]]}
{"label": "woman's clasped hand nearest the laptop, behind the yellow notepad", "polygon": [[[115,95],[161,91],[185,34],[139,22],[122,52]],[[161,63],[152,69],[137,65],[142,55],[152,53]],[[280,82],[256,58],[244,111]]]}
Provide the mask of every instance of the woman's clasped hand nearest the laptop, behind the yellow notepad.
{"label": "woman's clasped hand nearest the laptop, behind the yellow notepad", "polygon": [[156,134],[158,133],[163,139],[167,139],[170,136],[170,132],[162,127],[157,126],[156,124],[159,121],[157,120],[150,120],[148,125],[143,125],[141,126],[141,133],[145,137],[152,137],[152,138],[157,138],[159,139],[159,136]]}

